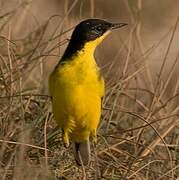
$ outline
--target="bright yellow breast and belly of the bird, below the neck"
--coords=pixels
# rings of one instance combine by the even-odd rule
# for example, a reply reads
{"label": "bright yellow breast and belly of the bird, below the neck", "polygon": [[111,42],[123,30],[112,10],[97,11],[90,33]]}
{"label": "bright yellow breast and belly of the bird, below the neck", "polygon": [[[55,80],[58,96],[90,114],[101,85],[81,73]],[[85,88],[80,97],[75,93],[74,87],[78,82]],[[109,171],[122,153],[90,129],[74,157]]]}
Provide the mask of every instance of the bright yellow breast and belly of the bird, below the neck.
{"label": "bright yellow breast and belly of the bird, below the neck", "polygon": [[50,76],[54,118],[75,142],[96,135],[104,93],[98,76],[96,67],[79,63],[57,67]]}

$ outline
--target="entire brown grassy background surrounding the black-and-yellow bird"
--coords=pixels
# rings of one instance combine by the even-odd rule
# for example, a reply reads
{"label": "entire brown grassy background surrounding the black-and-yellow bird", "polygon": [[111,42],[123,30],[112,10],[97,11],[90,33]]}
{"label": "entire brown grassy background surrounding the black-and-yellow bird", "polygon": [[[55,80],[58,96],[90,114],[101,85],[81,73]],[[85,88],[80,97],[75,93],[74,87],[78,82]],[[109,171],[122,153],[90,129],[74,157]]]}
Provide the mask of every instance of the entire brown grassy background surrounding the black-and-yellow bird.
{"label": "entire brown grassy background surrounding the black-and-yellow bird", "polygon": [[[53,122],[48,76],[87,18],[129,25],[95,52],[106,98],[81,170]],[[0,0],[0,177],[177,179],[178,18],[178,0]]]}

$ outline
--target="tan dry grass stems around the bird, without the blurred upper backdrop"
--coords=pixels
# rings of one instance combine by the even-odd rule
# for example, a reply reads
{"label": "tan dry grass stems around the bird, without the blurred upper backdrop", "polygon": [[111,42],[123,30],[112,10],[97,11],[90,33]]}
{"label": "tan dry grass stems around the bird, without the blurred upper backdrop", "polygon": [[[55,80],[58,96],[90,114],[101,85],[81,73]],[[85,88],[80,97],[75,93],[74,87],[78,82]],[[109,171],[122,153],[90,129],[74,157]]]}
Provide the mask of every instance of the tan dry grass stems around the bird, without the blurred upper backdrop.
{"label": "tan dry grass stems around the bird, without the blurred upper backdrop", "polygon": [[[89,167],[78,168],[71,149],[62,145],[44,85],[71,32],[66,26],[72,27],[69,14],[77,1],[69,8],[65,2],[63,17],[50,17],[21,39],[13,36],[12,22],[19,9],[26,13],[28,2],[1,15],[0,179],[177,179],[179,54],[174,60],[170,54],[179,19],[145,49],[139,18],[142,0],[135,4],[137,15],[125,1],[133,25],[126,30],[128,36],[118,38],[120,46],[115,40],[109,42],[107,49],[112,44],[117,48],[115,55],[109,55],[111,61],[100,62],[107,87],[98,144],[92,146]],[[94,16],[93,0],[90,7]],[[21,18],[16,29],[23,23]],[[166,49],[159,52],[161,64],[155,73],[151,55],[164,42]],[[99,58],[104,48],[99,48]]]}

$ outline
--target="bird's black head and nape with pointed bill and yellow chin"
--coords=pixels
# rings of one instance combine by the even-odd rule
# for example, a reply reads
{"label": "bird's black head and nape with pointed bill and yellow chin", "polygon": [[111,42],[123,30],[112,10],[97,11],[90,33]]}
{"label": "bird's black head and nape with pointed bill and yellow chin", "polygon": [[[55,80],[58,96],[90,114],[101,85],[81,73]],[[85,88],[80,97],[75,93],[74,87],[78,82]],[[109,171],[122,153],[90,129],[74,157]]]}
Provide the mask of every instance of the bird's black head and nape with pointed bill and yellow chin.
{"label": "bird's black head and nape with pointed bill and yellow chin", "polygon": [[126,23],[110,23],[101,19],[87,19],[82,21],[73,31],[63,58],[66,59],[75,55],[80,50],[83,50],[85,46],[88,46],[88,49],[95,49],[111,30],[126,25]]}

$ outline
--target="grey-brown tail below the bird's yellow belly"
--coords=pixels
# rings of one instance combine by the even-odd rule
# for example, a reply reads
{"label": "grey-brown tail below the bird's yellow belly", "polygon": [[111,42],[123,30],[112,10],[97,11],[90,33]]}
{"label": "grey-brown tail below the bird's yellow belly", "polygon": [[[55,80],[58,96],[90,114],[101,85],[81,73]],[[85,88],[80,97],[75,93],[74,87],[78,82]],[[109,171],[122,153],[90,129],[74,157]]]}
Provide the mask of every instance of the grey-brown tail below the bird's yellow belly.
{"label": "grey-brown tail below the bird's yellow belly", "polygon": [[91,156],[90,154],[91,154],[91,150],[90,150],[89,139],[80,143],[77,142],[74,143],[74,156],[76,163],[79,166],[88,165]]}

